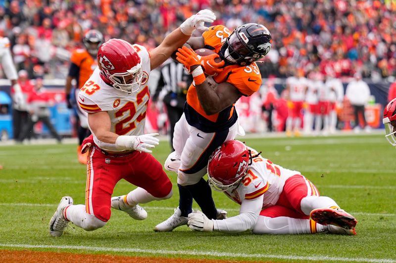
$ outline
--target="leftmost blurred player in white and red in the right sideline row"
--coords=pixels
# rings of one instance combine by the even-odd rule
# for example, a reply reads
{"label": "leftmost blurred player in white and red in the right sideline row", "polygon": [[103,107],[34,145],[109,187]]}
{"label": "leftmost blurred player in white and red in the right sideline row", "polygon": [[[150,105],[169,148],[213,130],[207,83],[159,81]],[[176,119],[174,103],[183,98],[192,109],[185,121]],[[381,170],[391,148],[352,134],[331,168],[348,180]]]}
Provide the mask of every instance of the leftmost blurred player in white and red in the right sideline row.
{"label": "leftmost blurred player in white and red in the right sideline row", "polygon": [[304,77],[304,71],[297,70],[297,76],[291,76],[286,79],[286,88],[289,91],[288,101],[288,118],[286,119],[286,135],[291,136],[294,131],[296,136],[300,135],[302,105],[305,98],[307,80]]}

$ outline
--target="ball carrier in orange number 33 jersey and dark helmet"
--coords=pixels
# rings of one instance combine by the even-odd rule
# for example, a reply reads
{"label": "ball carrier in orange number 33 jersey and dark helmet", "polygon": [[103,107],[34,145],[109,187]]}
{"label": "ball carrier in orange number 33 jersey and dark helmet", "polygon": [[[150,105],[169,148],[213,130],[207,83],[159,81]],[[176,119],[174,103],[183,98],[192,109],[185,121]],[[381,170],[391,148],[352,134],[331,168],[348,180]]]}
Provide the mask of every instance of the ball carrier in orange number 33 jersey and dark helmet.
{"label": "ball carrier in orange number 33 jersey and dark helmet", "polygon": [[[263,25],[249,23],[231,32],[222,25],[210,27],[201,37],[190,38],[178,49],[177,60],[193,75],[184,114],[175,125],[173,148],[165,169],[177,172],[179,207],[155,231],[172,231],[187,225],[193,198],[209,219],[224,219],[217,210],[203,176],[210,154],[225,141],[236,137],[239,126],[234,103],[250,96],[261,86],[255,61],[271,48],[271,34]],[[191,47],[191,48],[190,48]],[[207,48],[217,54],[199,57],[194,50]],[[216,63],[220,57],[222,62]],[[206,75],[210,75],[205,77]],[[243,135],[243,130],[239,133]]]}

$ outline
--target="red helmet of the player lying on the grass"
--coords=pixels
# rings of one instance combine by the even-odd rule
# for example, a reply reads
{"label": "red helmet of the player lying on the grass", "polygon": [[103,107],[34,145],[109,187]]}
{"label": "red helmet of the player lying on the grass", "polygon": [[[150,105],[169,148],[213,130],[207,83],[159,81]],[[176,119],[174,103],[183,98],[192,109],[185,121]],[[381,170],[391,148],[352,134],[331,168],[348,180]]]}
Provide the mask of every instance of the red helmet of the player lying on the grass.
{"label": "red helmet of the player lying on the grass", "polygon": [[249,161],[250,153],[245,144],[236,140],[223,143],[209,157],[207,175],[210,187],[224,192],[238,186]]}

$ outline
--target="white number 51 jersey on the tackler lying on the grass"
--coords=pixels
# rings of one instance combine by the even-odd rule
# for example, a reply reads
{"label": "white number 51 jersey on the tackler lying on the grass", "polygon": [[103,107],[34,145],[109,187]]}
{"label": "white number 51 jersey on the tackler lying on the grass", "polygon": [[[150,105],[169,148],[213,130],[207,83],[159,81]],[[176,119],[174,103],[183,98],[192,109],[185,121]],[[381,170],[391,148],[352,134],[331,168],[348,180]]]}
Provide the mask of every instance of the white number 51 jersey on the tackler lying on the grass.
{"label": "white number 51 jersey on the tackler lying on the grass", "polygon": [[[254,156],[257,152],[251,148]],[[261,155],[253,158],[247,174],[237,188],[224,193],[241,205],[239,215],[224,220],[212,220],[213,229],[225,233],[238,233],[253,229],[260,211],[277,203],[286,180],[300,172],[285,169]]]}

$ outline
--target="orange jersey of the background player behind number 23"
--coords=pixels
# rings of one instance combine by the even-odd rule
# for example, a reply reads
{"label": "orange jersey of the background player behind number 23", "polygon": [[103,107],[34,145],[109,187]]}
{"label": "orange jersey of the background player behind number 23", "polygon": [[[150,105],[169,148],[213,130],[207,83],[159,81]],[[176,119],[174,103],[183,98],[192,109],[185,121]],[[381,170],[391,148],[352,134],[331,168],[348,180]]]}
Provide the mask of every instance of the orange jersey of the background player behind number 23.
{"label": "orange jersey of the background player behind number 23", "polygon": [[86,49],[79,48],[71,54],[70,62],[69,76],[77,79],[77,86],[81,89],[98,66],[97,61]]}

